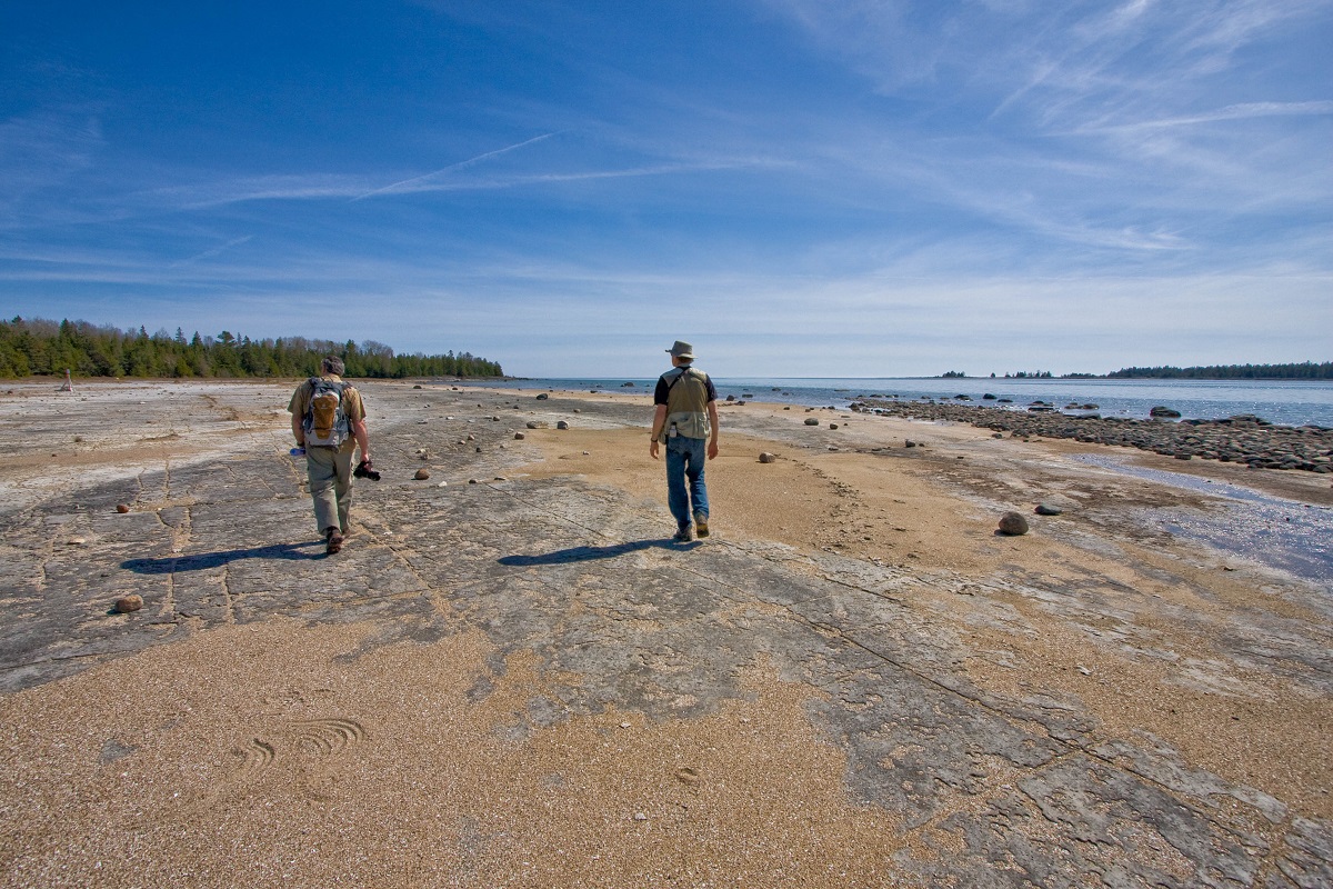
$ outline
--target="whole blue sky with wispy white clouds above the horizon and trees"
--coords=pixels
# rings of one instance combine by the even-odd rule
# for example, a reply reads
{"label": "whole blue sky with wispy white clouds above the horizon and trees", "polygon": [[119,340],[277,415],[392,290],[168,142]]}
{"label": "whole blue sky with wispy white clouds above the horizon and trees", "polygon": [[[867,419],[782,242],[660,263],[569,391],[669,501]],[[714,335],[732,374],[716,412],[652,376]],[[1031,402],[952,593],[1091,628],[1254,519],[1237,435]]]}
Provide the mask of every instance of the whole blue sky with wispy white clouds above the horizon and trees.
{"label": "whole blue sky with wispy white clouds above the horizon and trees", "polygon": [[524,376],[1333,359],[1333,0],[0,7],[0,315]]}

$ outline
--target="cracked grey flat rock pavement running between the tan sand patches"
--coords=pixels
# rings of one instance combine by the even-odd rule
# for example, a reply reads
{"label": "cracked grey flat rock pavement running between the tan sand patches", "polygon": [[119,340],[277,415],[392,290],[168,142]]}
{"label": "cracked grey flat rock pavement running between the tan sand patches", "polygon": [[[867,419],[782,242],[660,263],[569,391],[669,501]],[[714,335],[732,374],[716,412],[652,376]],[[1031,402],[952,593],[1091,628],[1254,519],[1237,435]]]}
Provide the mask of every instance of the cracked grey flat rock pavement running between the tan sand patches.
{"label": "cracked grey flat rock pavement running between the tan sand patches", "polygon": [[[913,605],[924,588],[1049,590],[724,533],[673,545],[657,504],[520,472],[539,456],[515,437],[528,420],[644,423],[637,401],[573,415],[531,393],[364,389],[385,477],[357,482],[355,532],[335,557],[287,454],[285,388],[89,385],[77,411],[45,387],[9,396],[4,423],[23,431],[29,468],[0,474],[0,689],[275,616],[364,624],[365,652],[464,630],[485,634],[496,669],[531,652],[547,681],[529,728],[611,708],[708,716],[764,666],[808,686],[808,718],[846,761],[830,780],[908,837],[950,837],[949,854],[893,861],[897,884],[1333,885],[1333,825],[1152,738],[1112,737],[1077,700],[978,688],[962,669],[966,638]],[[116,448],[117,460],[97,458]],[[416,481],[421,466],[431,477]],[[127,593],[144,609],[108,613]],[[1094,592],[1062,594],[1101,608]],[[1313,661],[1301,669],[1326,694],[1326,650],[1293,657]]]}

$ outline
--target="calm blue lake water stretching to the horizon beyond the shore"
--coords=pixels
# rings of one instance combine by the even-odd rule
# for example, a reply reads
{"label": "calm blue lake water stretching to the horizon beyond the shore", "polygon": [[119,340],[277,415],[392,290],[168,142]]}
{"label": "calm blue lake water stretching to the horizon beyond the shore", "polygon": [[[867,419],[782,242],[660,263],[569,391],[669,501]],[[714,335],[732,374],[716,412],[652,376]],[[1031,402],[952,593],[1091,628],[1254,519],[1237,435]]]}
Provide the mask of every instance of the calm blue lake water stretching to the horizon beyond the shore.
{"label": "calm blue lake water stretching to the horizon beyond the shore", "polygon": [[[633,383],[633,387],[627,387]],[[583,380],[509,380],[479,385],[544,391],[607,391],[627,395],[652,395],[656,377],[588,377]],[[720,399],[734,396],[753,401],[770,401],[802,407],[845,408],[862,397],[901,400],[954,400],[968,396],[973,404],[996,409],[1025,411],[1033,401],[1066,405],[1097,405],[1104,417],[1148,419],[1154,407],[1180,411],[1186,420],[1220,420],[1240,413],[1253,413],[1270,423],[1289,427],[1318,425],[1333,428],[1333,381],[1285,380],[1032,380],[965,377],[885,377],[885,379],[769,379],[714,377]],[[996,400],[982,400],[984,395]],[[997,404],[1010,399],[1012,404]],[[1066,413],[1086,413],[1068,409]]]}

